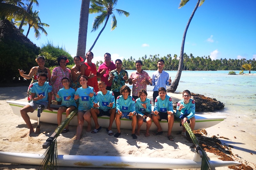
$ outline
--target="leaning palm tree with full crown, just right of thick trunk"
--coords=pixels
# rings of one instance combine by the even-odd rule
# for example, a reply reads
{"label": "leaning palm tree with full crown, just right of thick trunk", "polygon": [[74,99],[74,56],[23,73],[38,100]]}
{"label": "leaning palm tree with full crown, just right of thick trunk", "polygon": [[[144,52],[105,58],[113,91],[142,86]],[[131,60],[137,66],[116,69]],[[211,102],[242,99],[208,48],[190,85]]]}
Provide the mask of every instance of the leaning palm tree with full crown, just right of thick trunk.
{"label": "leaning palm tree with full crown, just right of thick trunk", "polygon": [[100,13],[100,15],[96,16],[94,21],[93,21],[91,32],[94,32],[94,31],[98,30],[100,25],[105,20],[106,21],[105,21],[105,24],[104,24],[103,28],[100,30],[99,35],[95,39],[95,41],[92,44],[92,47],[90,48],[89,51],[91,51],[92,48],[94,47],[95,43],[97,42],[98,38],[100,37],[100,34],[102,33],[102,31],[106,27],[110,15],[112,15],[112,14],[113,15],[112,15],[112,19],[111,19],[111,31],[113,31],[116,28],[117,21],[116,21],[116,16],[113,13],[114,11],[116,11],[117,14],[119,14],[119,16],[125,15],[126,17],[128,17],[130,15],[129,12],[119,10],[119,9],[114,9],[116,4],[117,4],[117,0],[91,0],[91,8],[89,9],[89,13],[90,14]]}

